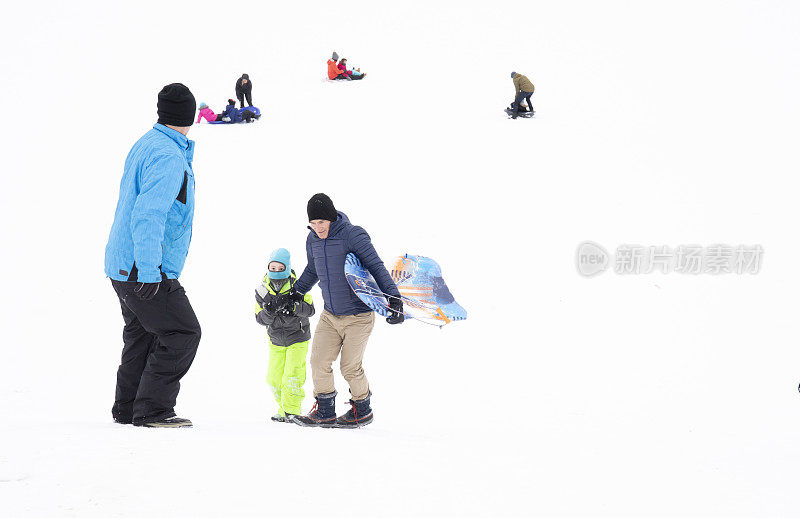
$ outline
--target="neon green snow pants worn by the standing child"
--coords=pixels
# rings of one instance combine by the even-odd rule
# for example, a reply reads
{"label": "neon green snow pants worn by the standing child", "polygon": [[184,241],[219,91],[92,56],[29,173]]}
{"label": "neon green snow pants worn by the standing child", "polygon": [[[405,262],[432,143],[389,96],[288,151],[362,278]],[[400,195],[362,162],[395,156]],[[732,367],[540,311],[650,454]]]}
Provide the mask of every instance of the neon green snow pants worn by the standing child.
{"label": "neon green snow pants worn by the standing child", "polygon": [[272,388],[281,415],[299,414],[306,393],[306,354],[308,341],[297,342],[288,347],[269,344],[269,369],[267,383]]}

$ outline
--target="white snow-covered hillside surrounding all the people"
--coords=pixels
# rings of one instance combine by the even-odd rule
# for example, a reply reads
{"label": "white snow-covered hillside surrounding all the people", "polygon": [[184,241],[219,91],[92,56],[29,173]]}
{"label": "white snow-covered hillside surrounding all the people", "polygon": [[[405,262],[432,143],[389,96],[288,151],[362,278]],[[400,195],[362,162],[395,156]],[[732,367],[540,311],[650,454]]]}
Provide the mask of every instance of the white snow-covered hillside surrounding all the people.
{"label": "white snow-covered hillside surrounding all the people", "polygon": [[[0,516],[800,514],[797,2],[3,9]],[[367,78],[324,81],[333,50]],[[512,70],[533,120],[503,113]],[[125,156],[163,85],[219,110],[244,72],[261,120],[189,133],[195,427],[114,424]],[[469,311],[376,325],[360,430],[268,420],[253,288],[274,248],[305,266],[316,192]],[[765,252],[757,275],[586,279],[584,240]]]}

